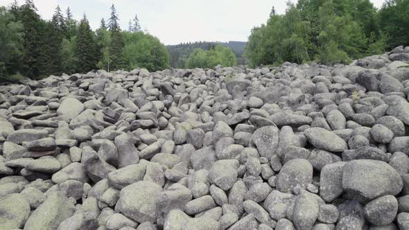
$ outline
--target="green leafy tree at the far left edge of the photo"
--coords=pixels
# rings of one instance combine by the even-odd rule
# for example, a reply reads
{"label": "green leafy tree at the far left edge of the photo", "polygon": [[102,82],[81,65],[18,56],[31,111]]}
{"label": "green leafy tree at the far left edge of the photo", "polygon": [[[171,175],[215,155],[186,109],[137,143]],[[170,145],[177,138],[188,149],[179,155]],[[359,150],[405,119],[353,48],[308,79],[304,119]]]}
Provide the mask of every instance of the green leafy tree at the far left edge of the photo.
{"label": "green leafy tree at the far left edge of the photo", "polygon": [[19,69],[19,57],[23,50],[23,26],[15,22],[15,16],[0,7],[0,80],[8,80]]}

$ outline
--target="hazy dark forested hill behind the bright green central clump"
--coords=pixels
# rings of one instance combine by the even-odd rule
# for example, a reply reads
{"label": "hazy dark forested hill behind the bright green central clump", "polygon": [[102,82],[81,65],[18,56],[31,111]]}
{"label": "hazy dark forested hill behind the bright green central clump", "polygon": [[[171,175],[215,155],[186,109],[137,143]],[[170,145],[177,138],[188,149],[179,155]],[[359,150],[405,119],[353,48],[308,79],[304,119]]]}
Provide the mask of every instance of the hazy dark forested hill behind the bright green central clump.
{"label": "hazy dark forested hill behind the bright green central clump", "polygon": [[174,68],[185,68],[186,60],[189,55],[193,52],[195,48],[201,48],[204,51],[214,48],[216,44],[221,44],[223,46],[232,49],[233,53],[237,57],[237,64],[245,64],[245,59],[243,57],[244,46],[247,42],[188,42],[178,45],[167,46],[169,51],[169,56],[171,57],[171,67]]}

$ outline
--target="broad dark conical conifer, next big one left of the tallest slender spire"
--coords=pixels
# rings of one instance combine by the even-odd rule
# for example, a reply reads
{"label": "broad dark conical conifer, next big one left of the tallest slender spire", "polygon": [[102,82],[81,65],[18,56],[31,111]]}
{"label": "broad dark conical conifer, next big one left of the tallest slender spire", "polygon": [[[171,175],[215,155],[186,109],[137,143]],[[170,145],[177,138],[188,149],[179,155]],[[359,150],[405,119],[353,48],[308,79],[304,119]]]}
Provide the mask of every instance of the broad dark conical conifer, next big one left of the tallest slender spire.
{"label": "broad dark conical conifer, next big one left of the tallest slender spire", "polygon": [[96,48],[92,33],[87,16],[84,14],[78,28],[76,47],[78,72],[80,73],[91,71],[96,64]]}

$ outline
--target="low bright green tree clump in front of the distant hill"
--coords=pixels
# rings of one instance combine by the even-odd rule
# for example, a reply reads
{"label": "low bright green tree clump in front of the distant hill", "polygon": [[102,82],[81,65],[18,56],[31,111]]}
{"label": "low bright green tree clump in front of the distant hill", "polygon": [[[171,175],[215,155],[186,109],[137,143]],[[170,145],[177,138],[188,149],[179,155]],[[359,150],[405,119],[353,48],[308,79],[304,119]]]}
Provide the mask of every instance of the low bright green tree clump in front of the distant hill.
{"label": "low bright green tree clump in front of the distant hill", "polygon": [[233,67],[237,64],[236,55],[230,48],[216,45],[215,48],[208,51],[203,51],[201,48],[196,48],[189,55],[186,62],[187,68],[213,68],[221,64],[223,67]]}

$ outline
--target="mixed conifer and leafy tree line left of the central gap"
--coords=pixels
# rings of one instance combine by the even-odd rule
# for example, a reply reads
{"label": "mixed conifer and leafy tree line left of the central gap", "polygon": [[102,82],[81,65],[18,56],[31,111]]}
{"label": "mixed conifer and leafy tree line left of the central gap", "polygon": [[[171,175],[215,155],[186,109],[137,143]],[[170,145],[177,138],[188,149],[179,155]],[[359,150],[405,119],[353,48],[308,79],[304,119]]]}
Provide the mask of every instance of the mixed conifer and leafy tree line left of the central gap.
{"label": "mixed conifer and leafy tree line left of the central gap", "polygon": [[22,6],[14,1],[8,8],[0,6],[0,41],[0,80],[169,66],[166,46],[141,31],[137,16],[128,31],[121,30],[114,5],[109,19],[101,19],[94,31],[87,15],[76,21],[70,8],[64,14],[57,6],[52,19],[44,20],[33,0]]}

